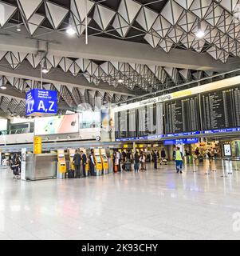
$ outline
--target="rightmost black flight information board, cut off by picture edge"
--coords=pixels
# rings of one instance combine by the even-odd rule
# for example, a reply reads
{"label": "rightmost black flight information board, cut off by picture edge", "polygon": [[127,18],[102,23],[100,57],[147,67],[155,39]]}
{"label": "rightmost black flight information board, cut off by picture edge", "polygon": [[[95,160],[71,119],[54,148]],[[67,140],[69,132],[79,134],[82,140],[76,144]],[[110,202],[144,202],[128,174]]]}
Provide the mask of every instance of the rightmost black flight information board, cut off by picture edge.
{"label": "rightmost black flight information board, cut off by picture edge", "polygon": [[240,126],[240,86],[202,94],[203,130]]}

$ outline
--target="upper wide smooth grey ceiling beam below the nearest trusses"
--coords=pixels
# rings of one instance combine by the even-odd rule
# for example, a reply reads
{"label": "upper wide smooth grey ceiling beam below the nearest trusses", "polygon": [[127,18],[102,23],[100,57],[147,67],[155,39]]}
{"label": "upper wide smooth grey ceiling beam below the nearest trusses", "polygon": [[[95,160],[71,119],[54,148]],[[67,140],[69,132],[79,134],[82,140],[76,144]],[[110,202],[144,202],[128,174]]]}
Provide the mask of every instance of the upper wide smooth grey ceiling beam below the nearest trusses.
{"label": "upper wide smooth grey ceiling beam below the nearest trusses", "polygon": [[72,58],[89,58],[100,61],[130,62],[147,65],[176,67],[192,70],[214,70],[226,72],[234,70],[236,63],[226,64],[214,60],[209,54],[198,54],[192,50],[172,49],[169,53],[164,50],[154,50],[144,43],[128,42],[102,37],[89,37],[89,44],[85,44],[85,37],[69,38],[63,32],[38,28],[34,38],[28,34],[16,34],[5,30],[9,34],[1,35],[0,50],[37,52],[37,39],[50,40],[49,53],[57,56]]}

